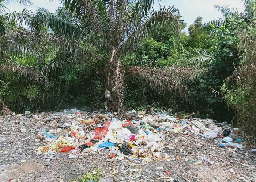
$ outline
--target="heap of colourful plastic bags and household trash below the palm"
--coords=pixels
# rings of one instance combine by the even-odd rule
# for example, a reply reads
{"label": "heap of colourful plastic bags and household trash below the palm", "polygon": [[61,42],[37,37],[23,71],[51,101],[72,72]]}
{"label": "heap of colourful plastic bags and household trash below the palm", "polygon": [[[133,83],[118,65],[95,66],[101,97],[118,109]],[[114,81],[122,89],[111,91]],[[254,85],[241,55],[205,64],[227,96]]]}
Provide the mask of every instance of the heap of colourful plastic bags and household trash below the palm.
{"label": "heap of colourful plastic bags and household trash below the palm", "polygon": [[[118,120],[117,113],[111,112],[94,113],[87,118],[87,112],[75,109],[51,115],[52,118],[61,115],[72,122],[62,120],[56,128],[49,127],[39,131],[39,138],[46,141],[46,145],[36,149],[39,155],[68,153],[69,158],[76,158],[79,155],[105,151],[108,161],[118,159],[147,162],[159,157],[169,161],[171,156],[162,151],[165,148],[165,138],[172,132],[214,138],[220,147],[243,148],[241,139],[232,142],[236,138],[236,128],[230,130],[231,125],[227,122],[218,123],[211,119],[179,119],[165,112],[146,114],[134,110],[129,112],[134,120]],[[181,139],[174,138],[173,142]]]}

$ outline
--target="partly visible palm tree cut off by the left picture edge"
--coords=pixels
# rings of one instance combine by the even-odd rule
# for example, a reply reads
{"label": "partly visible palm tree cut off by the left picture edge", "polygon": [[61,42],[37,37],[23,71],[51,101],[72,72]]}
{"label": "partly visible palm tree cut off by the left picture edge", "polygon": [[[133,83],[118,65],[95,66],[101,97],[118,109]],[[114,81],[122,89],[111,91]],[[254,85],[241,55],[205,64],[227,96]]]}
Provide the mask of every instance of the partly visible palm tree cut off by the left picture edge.
{"label": "partly visible palm tree cut off by the left picture edge", "polygon": [[[12,51],[5,51],[6,41],[2,39],[4,33],[12,31],[25,31],[21,25],[27,25],[31,19],[31,11],[23,9],[22,12],[10,12],[7,13],[8,5],[20,4],[31,5],[30,0],[0,0],[0,111],[4,113],[10,113],[10,100],[15,101],[15,97],[24,91],[28,83],[48,82],[48,79],[35,71],[32,67],[22,66],[19,63],[13,61],[11,56],[18,56],[20,52],[26,54],[22,45],[16,45],[16,48]],[[11,43],[10,41],[9,43]],[[18,46],[18,47],[17,47]],[[6,102],[7,101],[7,102]]]}

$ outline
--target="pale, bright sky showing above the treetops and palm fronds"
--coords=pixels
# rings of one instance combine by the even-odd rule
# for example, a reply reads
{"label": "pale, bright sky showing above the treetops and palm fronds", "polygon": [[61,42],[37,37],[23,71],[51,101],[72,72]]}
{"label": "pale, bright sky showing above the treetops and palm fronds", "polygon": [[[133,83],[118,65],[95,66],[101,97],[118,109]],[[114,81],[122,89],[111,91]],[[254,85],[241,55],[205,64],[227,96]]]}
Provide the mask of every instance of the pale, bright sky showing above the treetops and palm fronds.
{"label": "pale, bright sky showing above the treetops and palm fronds", "polygon": [[[59,7],[60,1],[54,0],[49,2],[49,0],[31,0],[33,5],[31,7],[22,7],[20,5],[10,5],[10,11],[22,11],[24,8],[31,9],[35,11],[38,7],[47,8],[50,12],[55,12]],[[164,5],[166,7],[173,6],[178,8],[180,11],[182,19],[187,23],[187,27],[184,29],[188,32],[189,25],[194,23],[194,20],[201,16],[203,18],[203,23],[211,20],[216,20],[221,17],[221,13],[215,10],[214,5],[230,5],[233,8],[237,8],[240,11],[243,10],[243,3],[241,0],[166,0],[164,3],[160,3],[161,7]],[[155,0],[153,5],[155,9],[159,9],[159,3]]]}

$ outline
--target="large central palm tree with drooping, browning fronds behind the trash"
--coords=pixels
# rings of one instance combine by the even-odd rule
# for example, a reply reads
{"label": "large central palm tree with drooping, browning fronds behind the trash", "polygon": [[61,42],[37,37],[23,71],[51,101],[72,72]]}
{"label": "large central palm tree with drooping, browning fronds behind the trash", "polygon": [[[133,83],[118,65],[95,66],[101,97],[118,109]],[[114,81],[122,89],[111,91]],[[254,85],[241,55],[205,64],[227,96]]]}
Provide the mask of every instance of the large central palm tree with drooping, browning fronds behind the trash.
{"label": "large central palm tree with drooping, browning fronds behind the trash", "polygon": [[[187,97],[188,91],[182,79],[191,78],[195,71],[197,75],[202,74],[197,67],[165,68],[157,62],[134,56],[143,47],[143,41],[162,26],[168,27],[175,35],[180,32],[178,10],[163,7],[155,11],[151,8],[153,2],[62,0],[57,15],[38,9],[30,21],[30,31],[5,34],[3,40],[12,40],[5,50],[11,51],[18,43],[24,42],[33,45],[20,46],[25,52],[32,53],[34,48],[56,48],[54,63],[49,62],[42,68],[46,73],[56,63],[62,68],[63,63],[70,62],[92,68],[104,82],[106,110],[125,110],[125,79],[129,76],[139,77],[159,94],[169,91]],[[50,32],[45,32],[45,27]],[[125,61],[128,57],[133,58],[132,64]]]}

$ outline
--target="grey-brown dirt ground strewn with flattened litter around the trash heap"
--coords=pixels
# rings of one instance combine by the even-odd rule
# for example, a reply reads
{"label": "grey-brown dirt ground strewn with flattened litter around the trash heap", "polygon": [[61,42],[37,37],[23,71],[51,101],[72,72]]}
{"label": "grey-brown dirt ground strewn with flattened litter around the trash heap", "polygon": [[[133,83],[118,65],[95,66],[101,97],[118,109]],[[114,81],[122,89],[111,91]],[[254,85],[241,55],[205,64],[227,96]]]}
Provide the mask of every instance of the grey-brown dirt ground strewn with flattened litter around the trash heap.
{"label": "grey-brown dirt ground strewn with flattened litter around the trash heap", "polygon": [[[49,114],[44,113],[47,120]],[[70,153],[54,155],[37,154],[36,148],[45,145],[38,132],[67,118],[51,118],[42,124],[32,116],[0,116],[0,182],[69,182],[72,179],[102,169],[102,182],[253,182],[256,181],[255,146],[243,143],[244,148],[221,147],[211,138],[163,131],[161,157],[152,157],[149,162],[109,159],[109,151],[87,153],[70,159]],[[74,119],[74,118],[71,118]],[[21,132],[21,129],[26,129]],[[157,132],[157,131],[155,131]],[[174,139],[178,138],[178,142]],[[166,160],[165,153],[172,156]],[[206,157],[213,164],[205,161]],[[138,169],[138,172],[131,171]],[[167,175],[165,171],[169,171]],[[180,181],[181,181],[180,180]]]}

